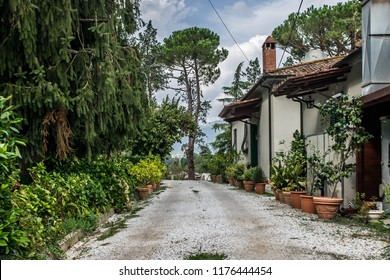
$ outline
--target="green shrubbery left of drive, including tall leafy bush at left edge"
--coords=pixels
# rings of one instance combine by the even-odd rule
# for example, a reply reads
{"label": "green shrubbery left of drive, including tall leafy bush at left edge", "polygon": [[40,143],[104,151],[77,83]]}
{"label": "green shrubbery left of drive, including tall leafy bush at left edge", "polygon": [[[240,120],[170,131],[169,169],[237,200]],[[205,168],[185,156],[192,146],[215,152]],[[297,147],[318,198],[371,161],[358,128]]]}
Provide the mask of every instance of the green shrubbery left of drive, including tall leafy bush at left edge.
{"label": "green shrubbery left of drive, including tall leafy bush at left edge", "polygon": [[91,231],[99,213],[131,209],[137,199],[131,170],[137,162],[161,179],[164,166],[157,157],[133,162],[123,156],[99,156],[73,159],[51,170],[38,163],[28,169],[29,182],[20,184],[17,146],[24,142],[16,138],[20,119],[13,117],[12,107],[5,107],[6,101],[0,96],[1,258],[44,258],[73,227]]}

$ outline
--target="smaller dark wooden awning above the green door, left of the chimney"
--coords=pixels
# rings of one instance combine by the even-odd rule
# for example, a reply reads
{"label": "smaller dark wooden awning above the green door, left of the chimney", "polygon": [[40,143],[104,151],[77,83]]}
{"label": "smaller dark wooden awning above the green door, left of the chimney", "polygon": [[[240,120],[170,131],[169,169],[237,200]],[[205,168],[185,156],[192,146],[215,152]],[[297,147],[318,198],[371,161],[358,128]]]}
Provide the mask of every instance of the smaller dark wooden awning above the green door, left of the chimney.
{"label": "smaller dark wooden awning above the green door, left of the chimney", "polygon": [[251,118],[259,111],[260,100],[260,98],[253,98],[226,105],[218,116],[226,122]]}

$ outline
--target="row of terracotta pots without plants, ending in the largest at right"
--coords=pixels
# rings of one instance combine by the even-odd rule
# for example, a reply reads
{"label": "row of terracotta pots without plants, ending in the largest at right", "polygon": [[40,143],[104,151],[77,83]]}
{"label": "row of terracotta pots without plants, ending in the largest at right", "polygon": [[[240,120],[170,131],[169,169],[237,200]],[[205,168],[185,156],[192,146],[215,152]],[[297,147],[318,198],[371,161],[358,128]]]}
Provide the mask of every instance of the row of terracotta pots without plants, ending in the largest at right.
{"label": "row of terracotta pots without plants, ending in the largest at right", "polygon": [[304,213],[317,214],[320,219],[333,219],[336,217],[342,198],[330,198],[306,195],[304,191],[285,192],[275,191],[275,198],[292,208],[301,209]]}

